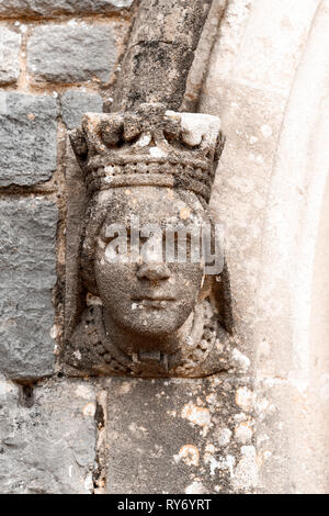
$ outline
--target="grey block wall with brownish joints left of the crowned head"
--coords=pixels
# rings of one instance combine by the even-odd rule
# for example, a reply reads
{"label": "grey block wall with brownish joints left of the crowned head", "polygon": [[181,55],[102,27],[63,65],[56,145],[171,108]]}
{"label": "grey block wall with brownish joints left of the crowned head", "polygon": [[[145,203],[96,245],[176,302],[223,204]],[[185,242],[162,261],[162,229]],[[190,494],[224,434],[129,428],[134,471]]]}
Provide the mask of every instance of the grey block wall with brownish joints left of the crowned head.
{"label": "grey block wall with brownish joints left of the crowned head", "polygon": [[92,493],[97,392],[58,373],[67,130],[111,105],[133,0],[0,1],[0,492]]}

